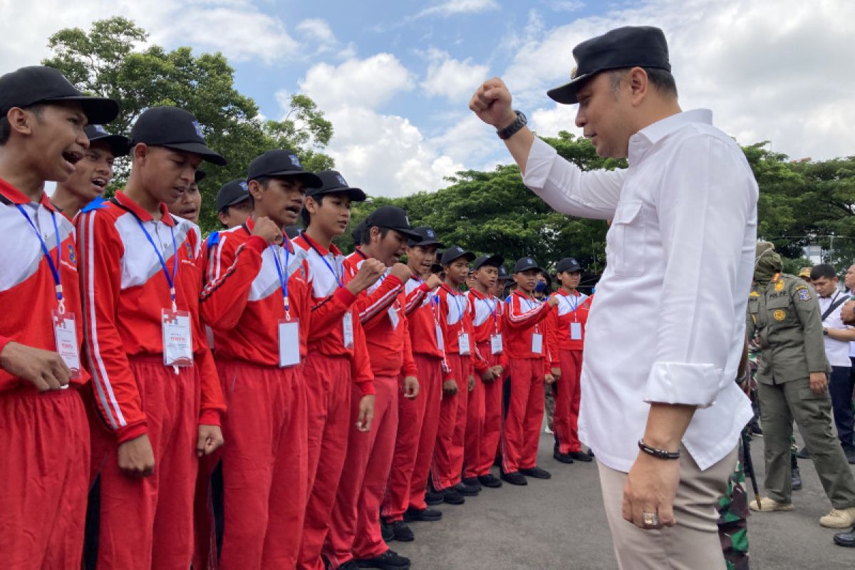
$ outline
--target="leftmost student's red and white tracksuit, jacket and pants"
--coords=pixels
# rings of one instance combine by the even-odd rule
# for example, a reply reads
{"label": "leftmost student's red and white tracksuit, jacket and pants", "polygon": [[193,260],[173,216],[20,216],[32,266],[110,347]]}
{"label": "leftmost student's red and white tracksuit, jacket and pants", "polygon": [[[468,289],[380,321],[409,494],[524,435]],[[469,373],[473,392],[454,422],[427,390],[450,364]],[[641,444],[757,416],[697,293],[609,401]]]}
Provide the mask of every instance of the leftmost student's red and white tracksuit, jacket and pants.
{"label": "leftmost student's red and white tracksuit, jacket and pants", "polygon": [[[6,243],[0,250],[0,352],[11,342],[56,352],[56,283],[36,231],[18,206],[44,239],[66,314],[74,314],[77,340],[83,340],[74,226],[44,193],[32,202],[0,179]],[[68,389],[40,393],[0,368],[0,567],[80,567],[89,488],[89,426],[80,391],[89,389],[88,381],[81,369]]]}

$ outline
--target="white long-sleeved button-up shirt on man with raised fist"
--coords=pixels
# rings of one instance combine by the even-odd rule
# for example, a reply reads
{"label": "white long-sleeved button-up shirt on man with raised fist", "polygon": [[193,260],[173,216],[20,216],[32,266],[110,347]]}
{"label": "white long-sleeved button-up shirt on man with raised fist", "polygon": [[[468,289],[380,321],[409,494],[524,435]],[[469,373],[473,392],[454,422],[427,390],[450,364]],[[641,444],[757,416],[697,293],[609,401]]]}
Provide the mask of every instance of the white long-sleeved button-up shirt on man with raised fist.
{"label": "white long-sleeved button-up shirt on man with raised fist", "polygon": [[682,443],[701,469],[752,418],[735,384],[757,244],[758,186],[705,109],[629,139],[629,167],[583,172],[535,138],[525,184],[563,214],[613,220],[587,322],[579,432],[628,472],[650,403],[698,406]]}

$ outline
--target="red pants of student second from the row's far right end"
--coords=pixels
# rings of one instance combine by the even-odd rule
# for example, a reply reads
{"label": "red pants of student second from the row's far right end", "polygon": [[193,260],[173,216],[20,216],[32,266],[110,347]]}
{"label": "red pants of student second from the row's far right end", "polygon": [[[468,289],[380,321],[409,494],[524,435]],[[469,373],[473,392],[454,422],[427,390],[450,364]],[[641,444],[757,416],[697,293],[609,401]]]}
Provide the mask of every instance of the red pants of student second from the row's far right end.
{"label": "red pants of student second from the row's far right end", "polygon": [[510,404],[502,431],[504,473],[535,467],[543,422],[543,358],[511,358],[509,369]]}

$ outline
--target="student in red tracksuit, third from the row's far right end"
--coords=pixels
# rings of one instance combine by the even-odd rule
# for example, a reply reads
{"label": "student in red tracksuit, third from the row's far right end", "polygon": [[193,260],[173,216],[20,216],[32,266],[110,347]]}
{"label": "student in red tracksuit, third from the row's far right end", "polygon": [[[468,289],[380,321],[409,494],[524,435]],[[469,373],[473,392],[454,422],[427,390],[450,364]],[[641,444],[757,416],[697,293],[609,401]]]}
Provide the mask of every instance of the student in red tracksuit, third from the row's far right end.
{"label": "student in red tracksuit, third from the row's far right end", "polygon": [[[475,388],[469,394],[469,419],[463,459],[463,483],[500,487],[490,473],[502,434],[502,378],[508,366],[504,351],[504,305],[493,297],[504,257],[481,256],[472,264],[475,281],[469,290],[469,314],[475,328]],[[477,411],[475,411],[477,410]]]}

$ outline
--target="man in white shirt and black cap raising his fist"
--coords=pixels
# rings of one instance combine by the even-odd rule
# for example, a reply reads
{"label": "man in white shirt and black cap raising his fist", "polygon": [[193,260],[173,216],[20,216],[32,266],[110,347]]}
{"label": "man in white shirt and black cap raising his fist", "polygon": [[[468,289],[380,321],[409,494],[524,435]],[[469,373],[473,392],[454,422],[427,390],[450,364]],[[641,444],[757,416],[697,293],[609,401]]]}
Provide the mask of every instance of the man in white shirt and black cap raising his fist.
{"label": "man in white shirt and black cap raising his fist", "polygon": [[552,208],[613,220],[587,324],[579,432],[598,459],[619,564],[723,567],[714,503],[752,417],[734,379],[758,187],[710,111],[681,111],[661,30],[618,28],[573,54],[571,81],[549,96],[579,103],[576,125],[598,155],[628,157],[627,170],[582,172],[557,156],[501,79],[469,107]]}

